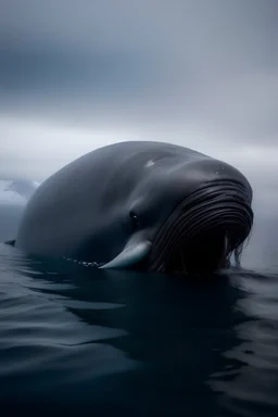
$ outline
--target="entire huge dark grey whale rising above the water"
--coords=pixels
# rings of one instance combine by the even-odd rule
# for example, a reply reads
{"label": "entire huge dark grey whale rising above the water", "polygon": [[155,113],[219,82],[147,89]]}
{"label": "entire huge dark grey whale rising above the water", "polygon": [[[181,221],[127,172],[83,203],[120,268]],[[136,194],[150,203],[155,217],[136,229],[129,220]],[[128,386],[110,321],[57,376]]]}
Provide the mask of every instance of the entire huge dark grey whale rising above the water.
{"label": "entire huge dark grey whale rising above the water", "polygon": [[121,142],[48,178],[15,245],[100,267],[214,273],[253,225],[252,188],[232,166],[182,147]]}

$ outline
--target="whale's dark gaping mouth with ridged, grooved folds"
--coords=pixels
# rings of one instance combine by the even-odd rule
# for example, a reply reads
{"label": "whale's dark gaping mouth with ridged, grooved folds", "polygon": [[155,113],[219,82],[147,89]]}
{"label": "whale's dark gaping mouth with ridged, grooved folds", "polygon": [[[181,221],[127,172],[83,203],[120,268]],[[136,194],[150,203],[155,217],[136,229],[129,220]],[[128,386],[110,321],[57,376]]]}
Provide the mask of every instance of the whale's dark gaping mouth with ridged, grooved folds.
{"label": "whale's dark gaping mouth with ridged, grooved folds", "polygon": [[213,182],[189,195],[155,236],[150,269],[214,274],[229,266],[252,229],[251,199],[236,181]]}

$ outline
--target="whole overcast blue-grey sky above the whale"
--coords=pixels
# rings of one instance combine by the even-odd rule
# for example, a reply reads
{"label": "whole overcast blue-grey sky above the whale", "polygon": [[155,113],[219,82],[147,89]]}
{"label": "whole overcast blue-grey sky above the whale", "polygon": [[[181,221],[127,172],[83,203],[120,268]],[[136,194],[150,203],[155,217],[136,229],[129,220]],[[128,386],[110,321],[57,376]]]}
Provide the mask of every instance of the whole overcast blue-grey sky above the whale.
{"label": "whole overcast blue-grey sky above the whale", "polygon": [[277,21],[277,0],[2,0],[0,177],[161,140],[233,164],[278,206]]}

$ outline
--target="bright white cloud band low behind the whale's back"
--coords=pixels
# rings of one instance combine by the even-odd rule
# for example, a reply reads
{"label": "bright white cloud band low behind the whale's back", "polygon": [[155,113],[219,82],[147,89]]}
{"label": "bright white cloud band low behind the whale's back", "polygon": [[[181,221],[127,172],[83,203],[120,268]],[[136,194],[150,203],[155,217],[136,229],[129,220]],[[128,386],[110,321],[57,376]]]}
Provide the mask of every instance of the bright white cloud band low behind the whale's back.
{"label": "bright white cloud band low behind the whale's back", "polygon": [[[202,130],[195,125],[187,130],[152,128],[91,129],[47,124],[45,121],[26,121],[25,117],[0,117],[0,136],[7,140],[1,144],[3,162],[0,176],[31,177],[43,180],[74,159],[102,146],[126,140],[156,140],[172,142],[216,159],[226,161],[256,184],[274,185],[278,178],[276,144],[233,146],[232,137],[224,138],[215,130]],[[20,138],[20,140],[18,140]]]}

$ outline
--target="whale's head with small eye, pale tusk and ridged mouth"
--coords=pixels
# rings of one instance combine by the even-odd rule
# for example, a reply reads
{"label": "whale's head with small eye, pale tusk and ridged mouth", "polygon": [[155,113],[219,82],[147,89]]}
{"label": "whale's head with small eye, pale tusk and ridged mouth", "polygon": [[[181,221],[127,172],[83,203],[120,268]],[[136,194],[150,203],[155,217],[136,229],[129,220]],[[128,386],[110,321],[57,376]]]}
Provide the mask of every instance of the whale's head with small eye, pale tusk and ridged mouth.
{"label": "whale's head with small eye, pale tusk and ridged mouth", "polygon": [[206,156],[165,165],[148,161],[129,199],[132,230],[102,268],[214,274],[239,264],[253,226],[252,187],[233,166]]}

